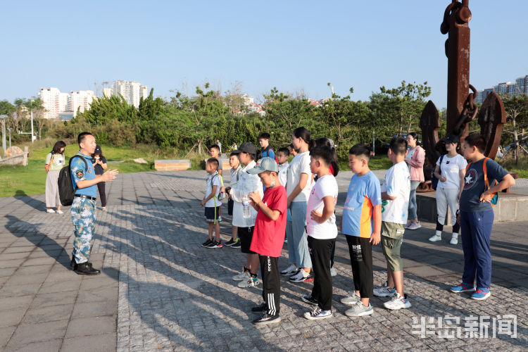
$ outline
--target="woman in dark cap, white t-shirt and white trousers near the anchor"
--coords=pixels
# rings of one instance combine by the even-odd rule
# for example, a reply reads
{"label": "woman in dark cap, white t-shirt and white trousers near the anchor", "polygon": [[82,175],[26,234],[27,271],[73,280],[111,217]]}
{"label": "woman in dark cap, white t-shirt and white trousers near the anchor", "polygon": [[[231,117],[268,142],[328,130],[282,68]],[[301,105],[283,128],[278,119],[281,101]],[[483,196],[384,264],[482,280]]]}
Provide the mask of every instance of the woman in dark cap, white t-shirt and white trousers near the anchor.
{"label": "woman in dark cap, white t-shirt and white trousers near the anchor", "polygon": [[467,161],[457,153],[459,139],[457,136],[450,134],[445,139],[447,154],[436,161],[434,176],[439,180],[436,186],[436,233],[429,241],[436,242],[442,239],[442,230],[446,222],[447,207],[451,210],[451,224],[453,225],[453,234],[451,235],[451,244],[458,244],[458,232],[460,225],[456,222],[456,211],[458,210],[458,200],[464,189],[464,176]]}

